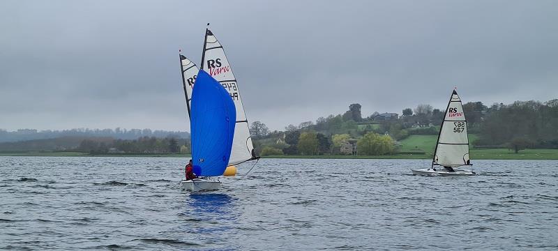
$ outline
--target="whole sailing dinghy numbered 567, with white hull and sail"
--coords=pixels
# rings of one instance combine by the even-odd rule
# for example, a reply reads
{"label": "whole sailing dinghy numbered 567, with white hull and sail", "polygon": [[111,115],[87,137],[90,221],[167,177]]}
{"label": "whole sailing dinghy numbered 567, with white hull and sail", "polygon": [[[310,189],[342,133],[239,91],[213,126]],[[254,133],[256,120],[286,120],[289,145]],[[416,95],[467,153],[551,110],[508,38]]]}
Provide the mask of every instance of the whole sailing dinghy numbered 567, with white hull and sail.
{"label": "whole sailing dinghy numbered 567, with white hull and sail", "polygon": [[471,166],[469,160],[469,136],[467,121],[463,113],[461,99],[453,90],[444,114],[444,121],[432,158],[432,165],[426,169],[411,169],[414,175],[468,176],[475,173],[461,169]]}

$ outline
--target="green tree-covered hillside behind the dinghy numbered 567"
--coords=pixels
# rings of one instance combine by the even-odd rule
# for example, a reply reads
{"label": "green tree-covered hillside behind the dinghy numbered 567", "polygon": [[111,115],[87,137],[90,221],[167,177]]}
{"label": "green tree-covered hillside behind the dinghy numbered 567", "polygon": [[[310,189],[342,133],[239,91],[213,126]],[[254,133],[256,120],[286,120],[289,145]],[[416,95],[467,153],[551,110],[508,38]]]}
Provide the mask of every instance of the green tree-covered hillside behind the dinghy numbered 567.
{"label": "green tree-covered hillside behind the dinghy numbered 567", "polygon": [[[558,100],[517,101],[510,105],[483,102],[463,104],[467,130],[478,135],[476,147],[558,148]],[[270,131],[261,121],[250,126],[255,149],[261,155],[343,154],[339,147],[356,145],[356,154],[385,155],[398,151],[396,142],[409,135],[438,135],[444,110],[421,104],[402,109],[401,116],[361,115],[361,105],[347,112]]]}

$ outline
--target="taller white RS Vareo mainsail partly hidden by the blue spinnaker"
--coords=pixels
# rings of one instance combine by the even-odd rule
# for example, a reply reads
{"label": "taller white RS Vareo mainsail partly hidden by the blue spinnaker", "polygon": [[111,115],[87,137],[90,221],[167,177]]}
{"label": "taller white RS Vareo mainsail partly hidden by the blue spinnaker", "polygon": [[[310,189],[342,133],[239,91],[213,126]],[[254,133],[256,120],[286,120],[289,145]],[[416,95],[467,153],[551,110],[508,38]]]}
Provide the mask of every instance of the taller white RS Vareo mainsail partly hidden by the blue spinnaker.
{"label": "taller white RS Vareo mainsail partly hidden by the blue spinnaker", "polygon": [[234,105],[236,105],[236,128],[234,130],[234,142],[232,144],[231,158],[229,165],[236,165],[248,160],[257,158],[248,129],[248,119],[242,105],[242,99],[239,92],[239,85],[232,73],[232,68],[223,45],[219,43],[213,33],[206,29],[204,50],[202,52],[202,70],[209,73],[229,92]]}

